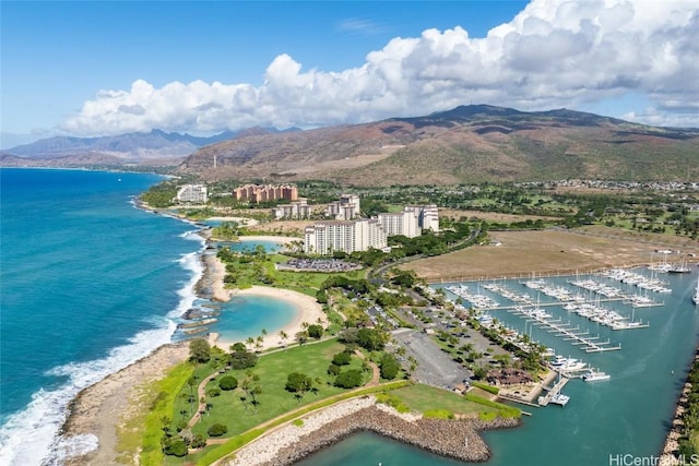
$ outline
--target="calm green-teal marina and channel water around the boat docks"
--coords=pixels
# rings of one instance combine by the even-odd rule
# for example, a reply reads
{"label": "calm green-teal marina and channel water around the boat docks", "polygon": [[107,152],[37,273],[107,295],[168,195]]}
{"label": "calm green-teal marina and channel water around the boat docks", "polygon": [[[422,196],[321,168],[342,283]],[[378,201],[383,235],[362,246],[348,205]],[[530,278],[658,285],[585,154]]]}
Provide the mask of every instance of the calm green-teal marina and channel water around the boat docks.
{"label": "calm green-teal marina and channel water around the boat docks", "polygon": [[[546,308],[547,312],[561,316],[565,321],[578,324],[581,331],[597,333],[602,339],[609,338],[621,344],[621,350],[585,354],[580,348],[553,336],[536,326],[532,328],[524,320],[505,312],[491,314],[508,326],[520,332],[531,332],[532,338],[556,349],[558,354],[570,356],[590,363],[612,375],[606,382],[585,383],[571,380],[562,393],[570,396],[564,408],[550,405],[545,408],[524,408],[533,414],[524,417],[518,429],[490,431],[484,438],[493,458],[491,466],[607,466],[616,455],[631,455],[626,458],[639,458],[651,463],[665,441],[666,432],[674,414],[675,402],[686,379],[687,369],[699,344],[699,311],[691,302],[697,283],[697,271],[688,275],[661,275],[672,286],[672,295],[655,295],[664,301],[662,308],[631,308],[620,302],[605,306],[636,320],[650,322],[649,328],[612,331],[589,322],[560,307]],[[548,278],[553,283],[564,284],[566,278]],[[609,280],[619,287],[618,282]],[[519,291],[525,289],[516,280],[509,282],[509,288]],[[472,289],[475,289],[473,286]],[[631,287],[627,288],[632,290]],[[509,303],[482,289],[481,292],[493,296],[501,304]],[[542,296],[541,302],[550,298]],[[348,443],[347,443],[348,442]],[[388,446],[390,445],[390,446]],[[390,449],[390,455],[382,449]],[[335,456],[337,455],[337,456]],[[407,464],[415,455],[413,447],[396,444],[388,439],[371,435],[355,435],[345,442],[307,458],[304,466],[342,464],[343,466]],[[341,457],[342,462],[331,459]],[[390,461],[388,459],[390,457]],[[642,459],[647,458],[647,459]],[[451,465],[452,461],[430,457],[419,464]],[[631,463],[629,463],[631,464]],[[641,464],[641,463],[638,463]]]}

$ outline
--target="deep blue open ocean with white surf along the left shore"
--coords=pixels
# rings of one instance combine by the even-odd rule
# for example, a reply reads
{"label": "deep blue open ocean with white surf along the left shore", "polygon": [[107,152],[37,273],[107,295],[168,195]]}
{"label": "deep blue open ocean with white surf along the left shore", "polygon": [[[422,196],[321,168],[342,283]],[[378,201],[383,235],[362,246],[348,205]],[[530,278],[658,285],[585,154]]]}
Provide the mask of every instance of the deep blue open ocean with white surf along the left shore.
{"label": "deep blue open ocean with white surf along the left shore", "polygon": [[[1,465],[95,447],[57,438],[69,402],[170,342],[197,301],[197,227],[133,205],[161,179],[0,169]],[[271,328],[266,316],[248,315],[248,332]]]}

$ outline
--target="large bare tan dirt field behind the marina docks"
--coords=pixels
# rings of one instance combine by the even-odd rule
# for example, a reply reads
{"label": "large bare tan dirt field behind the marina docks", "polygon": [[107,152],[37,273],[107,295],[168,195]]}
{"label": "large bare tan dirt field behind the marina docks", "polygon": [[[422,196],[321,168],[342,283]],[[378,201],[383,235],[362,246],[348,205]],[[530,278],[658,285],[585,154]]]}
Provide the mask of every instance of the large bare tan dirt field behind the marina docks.
{"label": "large bare tan dirt field behind the marina docks", "polygon": [[[613,266],[630,266],[660,262],[656,249],[680,250],[699,255],[699,243],[661,235],[630,234],[593,227],[543,231],[491,231],[500,246],[476,246],[437,258],[410,262],[412,268],[428,282],[516,277],[537,274],[574,273]],[[678,261],[672,254],[668,261]],[[692,263],[697,258],[689,258]]]}

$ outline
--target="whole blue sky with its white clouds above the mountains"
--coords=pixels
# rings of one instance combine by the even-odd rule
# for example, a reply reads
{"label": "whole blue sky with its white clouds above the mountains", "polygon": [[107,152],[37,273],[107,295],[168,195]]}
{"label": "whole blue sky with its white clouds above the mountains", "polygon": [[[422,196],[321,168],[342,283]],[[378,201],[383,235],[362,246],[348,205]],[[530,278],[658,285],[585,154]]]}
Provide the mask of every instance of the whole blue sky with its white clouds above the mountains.
{"label": "whole blue sky with its white clouds above the mountains", "polygon": [[2,146],[470,103],[699,127],[697,3],[657,3],[2,1]]}

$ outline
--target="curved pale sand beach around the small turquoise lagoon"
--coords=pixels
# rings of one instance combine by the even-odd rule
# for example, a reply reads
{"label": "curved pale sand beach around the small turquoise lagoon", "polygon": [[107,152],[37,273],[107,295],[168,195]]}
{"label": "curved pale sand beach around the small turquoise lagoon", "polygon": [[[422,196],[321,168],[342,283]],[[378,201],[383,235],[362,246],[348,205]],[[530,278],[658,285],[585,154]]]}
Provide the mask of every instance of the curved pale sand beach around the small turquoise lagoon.
{"label": "curved pale sand beach around the small turquoise lagoon", "polygon": [[[262,342],[262,349],[276,348],[294,343],[295,335],[305,330],[305,323],[321,323],[323,327],[328,326],[328,318],[325,316],[322,307],[316,301],[316,298],[304,295],[303,292],[268,286],[252,286],[246,289],[229,290],[228,292],[230,296],[265,296],[282,299],[295,308],[294,318],[284,327],[266,328],[268,334]],[[282,339],[280,336],[282,332],[288,336],[286,339]],[[216,346],[227,350],[234,343],[236,342],[218,338],[216,340]]]}

